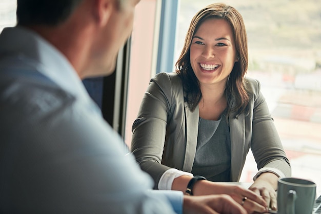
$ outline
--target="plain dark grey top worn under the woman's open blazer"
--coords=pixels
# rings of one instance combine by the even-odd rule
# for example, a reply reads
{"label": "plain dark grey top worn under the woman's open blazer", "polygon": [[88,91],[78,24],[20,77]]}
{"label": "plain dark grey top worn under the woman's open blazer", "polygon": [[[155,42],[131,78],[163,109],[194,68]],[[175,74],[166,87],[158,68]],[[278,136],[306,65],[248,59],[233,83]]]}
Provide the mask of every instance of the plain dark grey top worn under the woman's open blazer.
{"label": "plain dark grey top worn under the woman's open blazer", "polygon": [[230,181],[231,140],[226,112],[219,120],[199,118],[198,137],[192,173],[209,181]]}

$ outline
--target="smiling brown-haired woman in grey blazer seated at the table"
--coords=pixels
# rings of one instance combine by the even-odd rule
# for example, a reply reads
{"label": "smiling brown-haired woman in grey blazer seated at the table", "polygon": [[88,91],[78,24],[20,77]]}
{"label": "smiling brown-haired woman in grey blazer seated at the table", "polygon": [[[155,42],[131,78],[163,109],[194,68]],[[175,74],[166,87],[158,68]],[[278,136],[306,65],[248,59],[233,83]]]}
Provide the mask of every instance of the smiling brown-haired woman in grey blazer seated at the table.
{"label": "smiling brown-haired woman in grey blazer seated at the table", "polygon": [[155,188],[185,192],[198,175],[207,180],[194,179],[194,195],[227,193],[245,207],[260,203],[235,185],[215,183],[239,181],[251,148],[259,170],[249,189],[276,209],[277,180],[291,175],[290,163],[259,82],[245,77],[247,67],[239,12],[225,4],[200,10],[176,73],[151,79],[133,124],[132,152]]}

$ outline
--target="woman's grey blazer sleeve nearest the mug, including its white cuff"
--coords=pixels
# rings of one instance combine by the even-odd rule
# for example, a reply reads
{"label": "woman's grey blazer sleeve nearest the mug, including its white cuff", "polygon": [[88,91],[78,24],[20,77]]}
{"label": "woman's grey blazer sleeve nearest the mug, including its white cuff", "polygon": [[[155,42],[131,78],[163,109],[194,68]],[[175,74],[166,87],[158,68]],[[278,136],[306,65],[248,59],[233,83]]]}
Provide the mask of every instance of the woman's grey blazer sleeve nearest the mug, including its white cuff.
{"label": "woman's grey blazer sleeve nearest the mug, including its white cuff", "polygon": [[265,169],[265,171],[274,172],[279,177],[282,177],[282,173],[283,176],[291,176],[290,162],[275,128],[267,102],[260,91],[260,83],[247,79],[246,87],[250,100],[252,100],[250,103],[253,103],[249,106],[249,112],[253,112],[251,150],[258,170]]}

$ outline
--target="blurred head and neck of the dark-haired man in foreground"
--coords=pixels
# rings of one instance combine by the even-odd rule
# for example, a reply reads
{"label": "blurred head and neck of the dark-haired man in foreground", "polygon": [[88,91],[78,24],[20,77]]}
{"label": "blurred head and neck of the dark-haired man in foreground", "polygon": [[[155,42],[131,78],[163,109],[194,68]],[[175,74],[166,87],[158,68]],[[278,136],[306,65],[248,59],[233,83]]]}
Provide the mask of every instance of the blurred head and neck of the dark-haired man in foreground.
{"label": "blurred head and neck of the dark-haired man in foreground", "polygon": [[139,0],[17,0],[17,23],[61,51],[84,79],[109,75]]}

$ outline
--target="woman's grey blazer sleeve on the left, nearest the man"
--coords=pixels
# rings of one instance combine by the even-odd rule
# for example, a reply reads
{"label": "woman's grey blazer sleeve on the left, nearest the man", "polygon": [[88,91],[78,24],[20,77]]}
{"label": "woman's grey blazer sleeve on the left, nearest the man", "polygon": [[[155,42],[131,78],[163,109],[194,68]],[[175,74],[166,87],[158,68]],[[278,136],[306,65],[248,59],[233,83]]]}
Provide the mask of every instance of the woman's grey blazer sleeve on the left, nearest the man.
{"label": "woman's grey blazer sleeve on the left, nearest the man", "polygon": [[137,119],[132,126],[131,151],[141,168],[150,174],[157,189],[162,174],[170,167],[162,165],[167,118],[170,114],[172,84],[170,75],[159,73],[151,79],[143,96]]}

